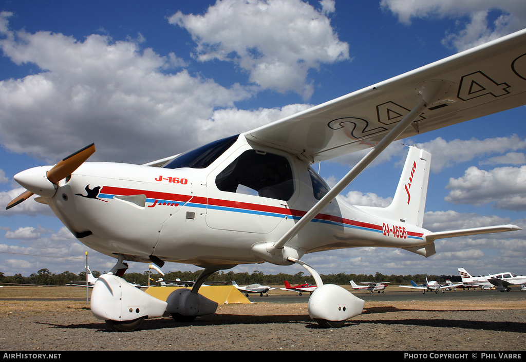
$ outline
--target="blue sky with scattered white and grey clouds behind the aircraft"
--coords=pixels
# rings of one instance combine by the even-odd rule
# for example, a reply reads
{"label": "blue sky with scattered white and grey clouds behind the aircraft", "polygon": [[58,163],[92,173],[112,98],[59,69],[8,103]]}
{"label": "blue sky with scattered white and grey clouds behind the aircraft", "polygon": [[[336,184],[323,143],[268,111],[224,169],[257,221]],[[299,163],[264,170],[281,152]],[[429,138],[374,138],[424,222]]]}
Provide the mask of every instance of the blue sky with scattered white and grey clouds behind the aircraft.
{"label": "blue sky with scattered white and grey clouds behind the aircraft", "polygon": [[[516,1],[0,1],[0,199],[13,175],[95,142],[90,160],[141,164],[345,95],[526,27]],[[433,155],[424,226],[526,227],[526,108],[404,140]],[[388,205],[406,149],[393,144],[342,196]],[[335,183],[356,162],[324,162]],[[526,232],[439,240],[423,258],[356,248],[306,255],[319,273],[526,274]],[[0,271],[27,276],[114,259],[41,204],[0,208]],[[196,270],[167,264],[165,271]],[[142,272],[145,264],[132,263]],[[238,266],[266,274],[299,266]]]}

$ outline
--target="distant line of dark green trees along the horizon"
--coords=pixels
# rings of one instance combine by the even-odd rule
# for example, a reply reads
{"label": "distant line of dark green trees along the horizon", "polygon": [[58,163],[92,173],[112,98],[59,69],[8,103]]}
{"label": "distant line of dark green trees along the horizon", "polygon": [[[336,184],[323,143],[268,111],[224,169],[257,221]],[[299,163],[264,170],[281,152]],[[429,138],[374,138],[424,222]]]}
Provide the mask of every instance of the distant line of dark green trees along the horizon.
{"label": "distant line of dark green trees along the horizon", "polygon": [[[95,277],[98,277],[100,274],[99,271],[92,271]],[[150,279],[150,285],[156,285],[156,281],[159,278],[164,280],[175,280],[179,278],[180,280],[194,281],[197,280],[200,271],[170,271],[164,276],[156,273],[150,274],[148,270],[144,273],[126,273],[124,274],[124,279],[130,283],[136,283],[140,285],[147,285],[148,278]],[[384,275],[377,271],[375,275],[369,274],[328,274],[321,275],[321,280],[326,284],[337,284],[337,285],[346,285],[349,284],[349,280],[354,280],[355,283],[361,283],[362,281],[375,281],[375,282],[390,282],[391,285],[409,285],[411,280],[417,284],[426,283],[426,277],[428,280],[436,280],[438,283],[444,283],[446,280],[451,280],[453,283],[458,283],[462,281],[462,278],[458,275],[426,275],[426,274],[416,274],[416,275]],[[78,275],[70,273],[69,271],[64,271],[60,274],[51,273],[48,269],[40,269],[37,273],[33,273],[28,277],[23,277],[21,274],[15,274],[13,276],[5,276],[4,273],[0,271],[0,284],[28,284],[28,285],[52,285],[60,286],[66,285],[72,281],[85,281],[86,272],[81,271]],[[262,271],[254,270],[253,273],[234,273],[234,271],[218,271],[217,273],[212,274],[208,277],[207,281],[224,281],[227,285],[232,284],[232,280],[235,280],[238,285],[248,285],[259,283],[262,285],[282,285],[285,280],[288,280],[291,285],[310,283],[315,284],[314,278],[305,274],[303,271],[291,274],[269,274],[265,275]]]}

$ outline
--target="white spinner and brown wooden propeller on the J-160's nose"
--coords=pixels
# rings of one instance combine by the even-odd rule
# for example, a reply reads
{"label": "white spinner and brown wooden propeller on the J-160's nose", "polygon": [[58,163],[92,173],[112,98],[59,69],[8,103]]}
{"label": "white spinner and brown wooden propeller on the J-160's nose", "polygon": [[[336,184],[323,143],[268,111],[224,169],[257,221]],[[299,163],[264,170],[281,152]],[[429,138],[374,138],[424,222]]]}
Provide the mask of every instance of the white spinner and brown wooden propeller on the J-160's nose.
{"label": "white spinner and brown wooden propeller on the J-160's nose", "polygon": [[26,191],[11,200],[11,202],[7,204],[6,210],[22,203],[33,194],[53,197],[58,182],[75,172],[94,152],[95,144],[92,143],[60,160],[53,167],[34,167],[16,174],[14,176],[16,182],[25,187]]}

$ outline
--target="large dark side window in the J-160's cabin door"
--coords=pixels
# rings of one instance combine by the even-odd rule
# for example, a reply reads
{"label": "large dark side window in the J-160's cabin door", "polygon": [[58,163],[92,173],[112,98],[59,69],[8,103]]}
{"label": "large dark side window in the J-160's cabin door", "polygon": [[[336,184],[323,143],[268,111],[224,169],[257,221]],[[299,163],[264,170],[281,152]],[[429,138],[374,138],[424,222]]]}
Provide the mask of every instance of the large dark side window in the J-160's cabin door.
{"label": "large dark side window in the J-160's cabin door", "polygon": [[242,153],[216,177],[221,191],[288,200],[294,179],[287,158],[257,151]]}

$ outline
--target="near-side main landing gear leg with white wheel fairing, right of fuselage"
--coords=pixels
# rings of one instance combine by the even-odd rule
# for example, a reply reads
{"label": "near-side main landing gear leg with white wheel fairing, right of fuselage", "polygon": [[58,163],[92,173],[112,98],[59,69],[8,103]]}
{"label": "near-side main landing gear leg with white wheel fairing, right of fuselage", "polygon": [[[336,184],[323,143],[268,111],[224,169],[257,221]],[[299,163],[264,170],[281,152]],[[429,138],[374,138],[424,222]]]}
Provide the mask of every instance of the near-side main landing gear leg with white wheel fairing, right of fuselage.
{"label": "near-side main landing gear leg with white wheel fairing, right of fuselage", "polygon": [[301,265],[314,277],[317,288],[309,297],[309,316],[324,328],[340,328],[347,319],[362,313],[364,300],[334,284],[325,284],[316,270],[310,265],[294,258],[289,262]]}

